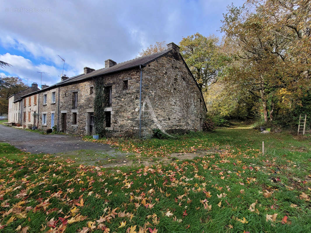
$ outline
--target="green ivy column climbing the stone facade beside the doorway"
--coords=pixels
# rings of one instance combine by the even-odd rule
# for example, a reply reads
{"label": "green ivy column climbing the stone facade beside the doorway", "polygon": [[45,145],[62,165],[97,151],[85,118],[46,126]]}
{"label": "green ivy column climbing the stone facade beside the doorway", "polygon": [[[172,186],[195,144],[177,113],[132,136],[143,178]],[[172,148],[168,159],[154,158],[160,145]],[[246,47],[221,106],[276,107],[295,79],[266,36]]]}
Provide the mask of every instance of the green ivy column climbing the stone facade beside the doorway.
{"label": "green ivy column climbing the stone facade beside the doorway", "polygon": [[95,80],[94,89],[95,89],[95,99],[94,99],[94,128],[95,135],[103,137],[105,135],[105,103],[106,96],[104,92],[104,79],[97,78]]}

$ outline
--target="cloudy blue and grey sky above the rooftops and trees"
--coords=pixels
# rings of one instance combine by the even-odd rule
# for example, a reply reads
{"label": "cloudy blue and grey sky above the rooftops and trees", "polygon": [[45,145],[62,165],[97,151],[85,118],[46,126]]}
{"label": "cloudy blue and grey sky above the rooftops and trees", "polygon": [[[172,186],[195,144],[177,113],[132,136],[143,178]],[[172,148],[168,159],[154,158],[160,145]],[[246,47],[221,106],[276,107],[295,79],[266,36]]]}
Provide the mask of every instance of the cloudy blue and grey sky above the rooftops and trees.
{"label": "cloudy blue and grey sky above the rooftops and trees", "polygon": [[[39,2],[39,3],[38,3]],[[221,37],[227,5],[243,0],[155,1],[3,1],[0,0],[0,61],[12,67],[0,75],[17,76],[29,85],[60,81],[65,58],[67,76],[83,67],[104,67],[135,58],[156,41],[179,43],[199,32]]]}

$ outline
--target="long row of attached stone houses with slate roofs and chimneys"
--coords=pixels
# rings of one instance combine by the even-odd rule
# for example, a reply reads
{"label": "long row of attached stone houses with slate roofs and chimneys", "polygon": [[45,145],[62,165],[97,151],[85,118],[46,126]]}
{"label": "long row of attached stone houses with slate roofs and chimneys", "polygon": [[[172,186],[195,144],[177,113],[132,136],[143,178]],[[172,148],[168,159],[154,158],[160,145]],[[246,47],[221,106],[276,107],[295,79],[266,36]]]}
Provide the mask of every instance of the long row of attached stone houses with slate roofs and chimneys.
{"label": "long row of attached stone houses with slate roofs and chimneys", "polygon": [[[94,112],[98,82],[105,95],[102,112]],[[99,70],[84,67],[83,74],[64,75],[54,85],[10,97],[9,103],[9,116],[16,116],[9,117],[11,122],[44,130],[56,126],[75,135],[94,133],[94,115],[104,117],[108,136],[148,137],[153,129],[168,134],[202,130],[206,114],[202,92],[174,43],[127,62],[108,59]]]}

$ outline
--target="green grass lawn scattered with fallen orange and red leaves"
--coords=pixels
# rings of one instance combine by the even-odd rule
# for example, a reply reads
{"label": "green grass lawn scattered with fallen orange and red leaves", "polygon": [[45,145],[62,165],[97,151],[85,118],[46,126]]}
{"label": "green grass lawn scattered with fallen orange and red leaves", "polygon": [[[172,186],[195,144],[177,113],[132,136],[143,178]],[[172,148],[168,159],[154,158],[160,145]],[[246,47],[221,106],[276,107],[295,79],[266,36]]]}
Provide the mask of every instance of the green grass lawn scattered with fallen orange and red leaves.
{"label": "green grass lawn scattered with fallen orange and red leaves", "polygon": [[[101,141],[160,163],[84,166],[0,143],[0,231],[311,232],[310,137],[237,127]],[[168,156],[180,152],[206,156]]]}

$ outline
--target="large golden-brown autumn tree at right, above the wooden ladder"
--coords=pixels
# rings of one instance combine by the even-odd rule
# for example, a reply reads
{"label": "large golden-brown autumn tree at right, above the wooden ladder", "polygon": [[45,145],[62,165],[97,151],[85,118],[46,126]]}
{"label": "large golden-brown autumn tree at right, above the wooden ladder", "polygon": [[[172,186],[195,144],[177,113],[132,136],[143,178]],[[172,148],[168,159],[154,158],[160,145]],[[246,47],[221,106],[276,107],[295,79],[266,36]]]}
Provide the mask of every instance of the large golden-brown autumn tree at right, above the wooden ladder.
{"label": "large golden-brown autumn tree at right, above the wooden ladder", "polygon": [[222,31],[234,62],[224,80],[258,98],[264,121],[276,105],[310,85],[310,1],[247,1],[228,7]]}

